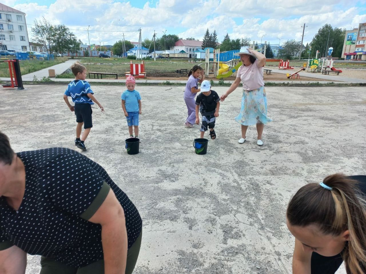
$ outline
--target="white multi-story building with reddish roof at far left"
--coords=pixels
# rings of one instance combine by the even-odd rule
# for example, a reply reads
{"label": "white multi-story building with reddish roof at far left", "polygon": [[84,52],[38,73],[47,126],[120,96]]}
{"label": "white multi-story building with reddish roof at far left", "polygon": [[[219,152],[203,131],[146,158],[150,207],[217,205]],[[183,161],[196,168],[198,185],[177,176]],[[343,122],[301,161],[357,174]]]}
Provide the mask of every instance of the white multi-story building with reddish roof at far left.
{"label": "white multi-story building with reddish roof at far left", "polygon": [[0,3],[0,49],[30,50],[25,13]]}

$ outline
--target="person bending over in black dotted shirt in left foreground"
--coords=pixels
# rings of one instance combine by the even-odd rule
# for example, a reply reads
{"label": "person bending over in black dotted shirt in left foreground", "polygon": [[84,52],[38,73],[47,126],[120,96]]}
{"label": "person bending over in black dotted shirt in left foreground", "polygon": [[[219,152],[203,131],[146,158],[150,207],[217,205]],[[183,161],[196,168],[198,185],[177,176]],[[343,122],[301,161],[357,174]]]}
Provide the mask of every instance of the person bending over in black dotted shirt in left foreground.
{"label": "person bending over in black dotted shirt in left foreground", "polygon": [[0,132],[0,273],[131,274],[142,221],[99,164],[67,148],[14,153]]}

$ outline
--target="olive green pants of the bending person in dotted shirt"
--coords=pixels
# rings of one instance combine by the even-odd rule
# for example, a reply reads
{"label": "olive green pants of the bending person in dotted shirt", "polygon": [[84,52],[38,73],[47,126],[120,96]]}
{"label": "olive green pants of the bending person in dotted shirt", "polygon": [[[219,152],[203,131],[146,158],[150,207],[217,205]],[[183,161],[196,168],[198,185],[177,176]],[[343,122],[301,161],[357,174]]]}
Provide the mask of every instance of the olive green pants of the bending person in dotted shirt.
{"label": "olive green pants of the bending person in dotted shirt", "polygon": [[[131,274],[134,271],[138,254],[140,252],[142,239],[142,231],[136,239],[135,243],[127,251],[126,274]],[[41,258],[40,274],[104,274],[104,260],[98,260],[84,267],[67,266],[64,263],[56,262],[52,258]]]}

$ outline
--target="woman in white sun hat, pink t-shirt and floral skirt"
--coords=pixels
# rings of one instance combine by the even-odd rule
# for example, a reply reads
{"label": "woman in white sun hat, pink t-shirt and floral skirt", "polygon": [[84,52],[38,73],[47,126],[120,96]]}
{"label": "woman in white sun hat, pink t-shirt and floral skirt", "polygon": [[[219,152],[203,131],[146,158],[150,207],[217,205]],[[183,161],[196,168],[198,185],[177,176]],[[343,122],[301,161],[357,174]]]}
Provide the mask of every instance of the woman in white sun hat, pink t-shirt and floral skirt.
{"label": "woman in white sun hat, pink t-shirt and floral skirt", "polygon": [[246,141],[248,126],[256,125],[258,140],[257,145],[263,145],[262,133],[264,124],[272,120],[267,116],[267,97],[264,89],[263,70],[266,62],[264,54],[253,50],[251,47],[241,47],[240,52],[234,53],[240,56],[243,65],[238,69],[238,75],[234,83],[221,96],[221,102],[231,94],[240,84],[243,83],[243,98],[240,113],[235,117],[235,121],[241,124],[242,138],[239,143]]}

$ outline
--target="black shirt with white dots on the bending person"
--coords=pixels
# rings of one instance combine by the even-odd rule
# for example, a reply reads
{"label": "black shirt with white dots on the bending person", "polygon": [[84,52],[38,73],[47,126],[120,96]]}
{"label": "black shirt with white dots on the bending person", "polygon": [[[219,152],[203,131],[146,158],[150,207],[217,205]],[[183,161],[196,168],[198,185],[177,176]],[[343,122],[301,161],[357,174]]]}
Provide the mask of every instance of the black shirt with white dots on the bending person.
{"label": "black shirt with white dots on the bending person", "polygon": [[17,155],[25,165],[25,194],[18,211],[0,197],[0,250],[15,245],[73,267],[103,259],[101,225],[87,219],[109,188],[124,209],[128,248],[132,246],[141,232],[141,217],[99,164],[67,148]]}

